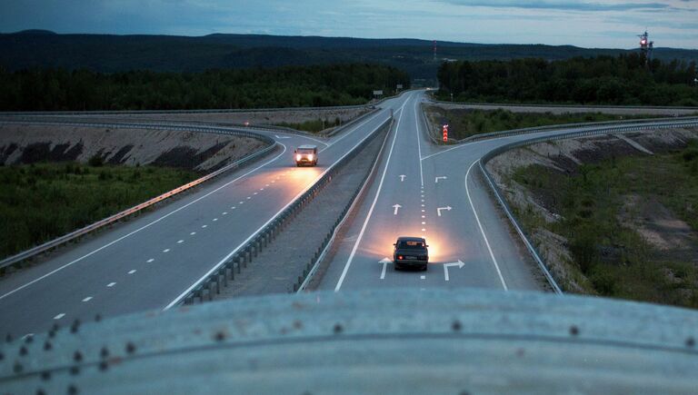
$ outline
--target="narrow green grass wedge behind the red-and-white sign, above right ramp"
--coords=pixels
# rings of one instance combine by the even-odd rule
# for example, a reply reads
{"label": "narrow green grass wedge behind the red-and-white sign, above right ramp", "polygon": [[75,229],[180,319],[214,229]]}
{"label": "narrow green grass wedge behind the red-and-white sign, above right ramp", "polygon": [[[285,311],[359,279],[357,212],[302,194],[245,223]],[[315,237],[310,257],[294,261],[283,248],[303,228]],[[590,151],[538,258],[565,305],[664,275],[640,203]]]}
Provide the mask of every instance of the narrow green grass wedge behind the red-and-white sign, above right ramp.
{"label": "narrow green grass wedge behind the red-and-white sign, above right ramp", "polygon": [[449,124],[449,136],[461,140],[474,134],[501,132],[534,126],[547,126],[563,123],[585,123],[619,121],[623,119],[648,118],[650,115],[612,115],[601,113],[551,114],[551,113],[513,113],[497,110],[445,110],[429,107],[436,122]]}

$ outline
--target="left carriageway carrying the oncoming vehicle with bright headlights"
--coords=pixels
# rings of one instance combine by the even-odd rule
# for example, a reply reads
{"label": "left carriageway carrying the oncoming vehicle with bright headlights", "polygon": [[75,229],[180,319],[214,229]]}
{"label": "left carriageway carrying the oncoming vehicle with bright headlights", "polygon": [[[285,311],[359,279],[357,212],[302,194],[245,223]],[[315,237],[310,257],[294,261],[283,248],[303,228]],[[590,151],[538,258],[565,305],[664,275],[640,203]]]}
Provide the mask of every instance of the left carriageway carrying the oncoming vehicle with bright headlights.
{"label": "left carriageway carrying the oncoming vehicle with bright headlights", "polygon": [[0,333],[21,336],[96,314],[163,309],[372,133],[405,97],[384,102],[382,111],[318,143],[317,167],[293,162],[294,146],[316,140],[270,132],[282,148],[261,162],[3,279]]}

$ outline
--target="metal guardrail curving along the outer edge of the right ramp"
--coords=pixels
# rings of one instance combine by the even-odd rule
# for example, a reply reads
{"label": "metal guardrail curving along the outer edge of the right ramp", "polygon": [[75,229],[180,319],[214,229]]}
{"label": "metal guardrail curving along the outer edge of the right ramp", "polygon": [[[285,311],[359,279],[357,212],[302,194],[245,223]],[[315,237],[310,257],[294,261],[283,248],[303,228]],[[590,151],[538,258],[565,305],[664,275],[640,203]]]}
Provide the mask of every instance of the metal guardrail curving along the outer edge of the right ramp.
{"label": "metal guardrail curving along the outer edge of the right ramp", "polygon": [[[490,187],[492,188],[494,195],[497,198],[497,201],[504,208],[504,212],[506,212],[506,216],[512,222],[514,229],[519,234],[519,236],[522,238],[523,244],[525,244],[526,249],[533,256],[533,260],[535,260],[535,262],[538,263],[539,267],[543,271],[543,274],[545,275],[545,278],[548,280],[548,282],[553,287],[553,291],[555,291],[556,293],[562,293],[563,291],[561,290],[561,288],[559,287],[557,282],[554,280],[553,275],[549,271],[548,265],[545,262],[543,262],[543,259],[541,258],[540,254],[537,252],[537,250],[533,246],[533,243],[530,241],[529,236],[526,234],[526,232],[523,230],[523,227],[519,224],[519,222],[514,217],[514,213],[513,213],[512,208],[504,200],[504,193],[502,193],[502,191],[499,189],[497,184],[494,183],[494,179],[493,179],[492,174],[489,173],[489,171],[486,168],[487,162],[489,162],[495,156],[497,156],[501,153],[505,153],[509,150],[512,150],[512,149],[520,147],[520,146],[531,145],[534,143],[543,143],[543,142],[548,142],[548,141],[565,140],[565,139],[570,139],[570,138],[588,137],[588,136],[612,134],[612,133],[633,133],[633,132],[643,132],[643,131],[647,131],[647,130],[670,129],[670,128],[675,128],[675,127],[696,127],[696,126],[698,126],[698,119],[681,120],[681,121],[674,120],[673,122],[668,122],[668,123],[652,123],[652,124],[643,124],[643,125],[602,127],[602,128],[595,128],[595,129],[587,129],[587,130],[583,130],[583,131],[575,131],[575,132],[570,132],[570,133],[560,133],[560,134],[556,134],[556,135],[552,135],[552,136],[542,136],[542,137],[536,137],[536,138],[529,139],[529,140],[523,140],[523,141],[519,141],[519,142],[504,144],[500,147],[494,148],[494,150],[492,150],[488,153],[485,153],[483,155],[483,157],[480,158],[480,160],[478,162],[480,163],[480,170],[484,174],[485,180],[487,180],[487,183],[489,183]],[[502,134],[502,136],[506,136],[506,135],[509,135],[509,134]]]}

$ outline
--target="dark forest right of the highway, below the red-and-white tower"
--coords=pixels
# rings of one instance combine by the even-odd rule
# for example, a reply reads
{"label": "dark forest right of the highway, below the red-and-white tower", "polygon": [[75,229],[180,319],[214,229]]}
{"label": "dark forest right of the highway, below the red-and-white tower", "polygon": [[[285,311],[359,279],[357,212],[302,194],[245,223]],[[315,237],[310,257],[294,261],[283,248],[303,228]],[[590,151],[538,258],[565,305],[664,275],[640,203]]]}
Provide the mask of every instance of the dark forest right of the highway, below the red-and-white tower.
{"label": "dark forest right of the highway, below the red-and-white tower", "polygon": [[695,62],[646,62],[631,53],[566,60],[451,62],[438,71],[441,100],[489,103],[698,106]]}

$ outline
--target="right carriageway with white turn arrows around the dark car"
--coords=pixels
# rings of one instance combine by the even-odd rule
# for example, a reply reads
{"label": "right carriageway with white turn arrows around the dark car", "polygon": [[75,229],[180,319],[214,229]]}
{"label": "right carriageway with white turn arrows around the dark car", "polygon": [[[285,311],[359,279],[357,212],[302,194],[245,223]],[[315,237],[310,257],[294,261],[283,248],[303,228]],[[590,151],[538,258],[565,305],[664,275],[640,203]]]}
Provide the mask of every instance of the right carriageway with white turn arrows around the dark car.
{"label": "right carriageway with white turn arrows around the dark car", "polygon": [[[479,287],[544,290],[542,273],[521,246],[481,177],[478,161],[506,143],[587,130],[514,135],[437,146],[425,135],[420,93],[396,114],[396,128],[377,178],[358,207],[319,285],[321,290],[375,287]],[[395,211],[395,204],[399,210]],[[398,236],[423,236],[427,272],[396,272]]]}

